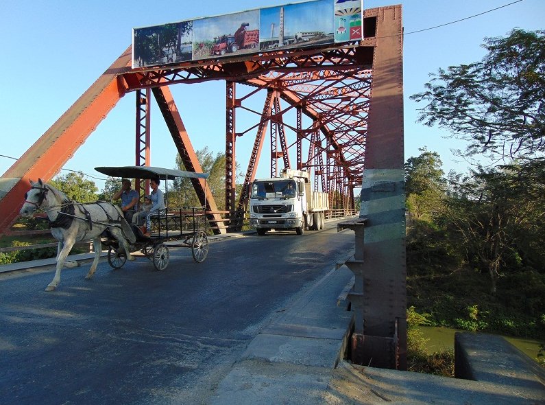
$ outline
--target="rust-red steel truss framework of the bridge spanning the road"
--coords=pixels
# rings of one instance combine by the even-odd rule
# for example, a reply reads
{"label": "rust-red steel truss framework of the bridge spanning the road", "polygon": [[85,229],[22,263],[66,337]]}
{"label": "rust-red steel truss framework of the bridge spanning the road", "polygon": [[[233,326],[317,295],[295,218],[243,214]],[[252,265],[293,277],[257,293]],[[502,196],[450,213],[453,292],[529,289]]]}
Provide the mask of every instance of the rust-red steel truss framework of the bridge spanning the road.
{"label": "rust-red steel truss framework of the bridge spanning the road", "polygon": [[[352,297],[354,303],[361,300],[363,309],[356,314],[355,336],[359,345],[354,350],[363,356],[363,362],[374,351],[378,358],[377,348],[381,343],[372,342],[393,336],[398,351],[393,363],[385,360],[384,366],[406,368],[401,11],[401,5],[365,10],[363,40],[341,46],[270,51],[154,69],[132,69],[129,47],[3,174],[0,234],[11,232],[29,179],[53,178],[121,97],[133,91],[138,97],[141,95],[138,92],[152,90],[184,164],[188,170],[198,170],[198,159],[168,86],[226,80],[225,196],[232,229],[241,225],[267,126],[275,128],[275,136],[280,134],[281,151],[269,157],[275,171],[278,159],[287,156],[289,148],[294,147],[295,166],[313,170],[315,183],[322,191],[330,192],[330,200],[338,201],[341,207],[353,207],[354,188],[361,187],[360,216],[366,220],[365,244],[363,238],[356,238],[356,251],[363,255],[353,270],[363,277],[361,286],[365,296]],[[236,203],[236,141],[247,133],[237,132],[237,108],[245,108],[245,97],[236,97],[235,86],[239,84],[254,86],[255,91],[265,90],[267,97]],[[149,97],[146,98],[149,103]],[[283,118],[290,109],[296,111],[294,126],[289,126]],[[311,127],[303,127],[303,115],[311,119]],[[136,129],[136,142],[143,143],[147,153],[149,122],[145,127],[145,132]],[[283,133],[290,128],[295,132],[291,144]],[[308,144],[306,161],[302,161],[303,143]],[[143,161],[147,164],[147,154],[138,158],[141,146],[136,147],[136,159],[138,164]],[[217,211],[207,185],[196,181],[193,186],[202,203],[204,200],[208,203],[208,210]],[[218,232],[226,231],[217,214],[211,214],[210,220],[217,221]],[[389,297],[386,306],[376,305],[386,296]]]}

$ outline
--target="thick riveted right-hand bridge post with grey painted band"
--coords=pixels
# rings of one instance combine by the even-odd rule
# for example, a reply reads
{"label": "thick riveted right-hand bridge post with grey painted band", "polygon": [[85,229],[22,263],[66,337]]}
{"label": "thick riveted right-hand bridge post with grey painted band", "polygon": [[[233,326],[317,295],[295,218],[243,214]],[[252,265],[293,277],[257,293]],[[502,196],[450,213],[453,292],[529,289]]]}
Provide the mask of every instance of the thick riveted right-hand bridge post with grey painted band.
{"label": "thick riveted right-hand bridge post with grey painted band", "polygon": [[356,260],[347,266],[358,289],[349,296],[356,308],[352,361],[407,369],[401,10],[370,10],[376,46],[361,189],[365,243],[358,228]]}

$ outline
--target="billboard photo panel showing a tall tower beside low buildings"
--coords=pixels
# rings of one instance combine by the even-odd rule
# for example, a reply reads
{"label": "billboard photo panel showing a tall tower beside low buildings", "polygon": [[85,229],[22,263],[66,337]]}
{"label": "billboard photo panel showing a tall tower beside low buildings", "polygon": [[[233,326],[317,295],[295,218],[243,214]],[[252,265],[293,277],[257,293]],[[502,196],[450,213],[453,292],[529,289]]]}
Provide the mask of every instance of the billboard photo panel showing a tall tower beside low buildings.
{"label": "billboard photo panel showing a tall tower beside low buildings", "polygon": [[334,43],[334,0],[261,9],[262,51]]}

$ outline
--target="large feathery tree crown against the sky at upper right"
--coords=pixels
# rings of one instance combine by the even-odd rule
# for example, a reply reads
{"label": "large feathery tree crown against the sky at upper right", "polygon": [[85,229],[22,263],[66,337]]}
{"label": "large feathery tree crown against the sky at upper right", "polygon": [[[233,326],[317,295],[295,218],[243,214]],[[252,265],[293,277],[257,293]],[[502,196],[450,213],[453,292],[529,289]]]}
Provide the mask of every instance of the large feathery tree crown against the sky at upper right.
{"label": "large feathery tree crown against the sky at upper right", "polygon": [[540,158],[545,152],[545,31],[485,38],[480,62],[439,69],[411,96],[419,121],[468,142],[465,157]]}

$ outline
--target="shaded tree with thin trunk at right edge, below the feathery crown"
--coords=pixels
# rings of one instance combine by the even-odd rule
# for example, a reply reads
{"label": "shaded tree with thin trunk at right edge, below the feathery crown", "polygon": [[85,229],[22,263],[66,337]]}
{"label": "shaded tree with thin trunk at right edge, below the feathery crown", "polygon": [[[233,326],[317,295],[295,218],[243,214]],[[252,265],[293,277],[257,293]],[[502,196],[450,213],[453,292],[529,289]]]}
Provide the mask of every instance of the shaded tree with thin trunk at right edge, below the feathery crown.
{"label": "shaded tree with thin trunk at right edge, below the feathery crown", "polygon": [[463,241],[470,262],[489,274],[492,294],[501,270],[517,270],[524,259],[526,264],[531,258],[536,262],[537,246],[545,242],[544,172],[536,165],[542,167],[537,161],[450,176],[445,217]]}

